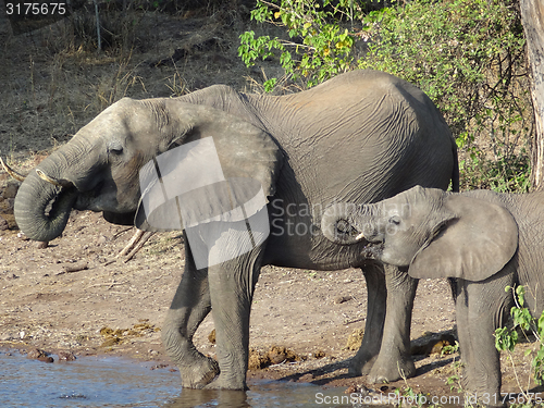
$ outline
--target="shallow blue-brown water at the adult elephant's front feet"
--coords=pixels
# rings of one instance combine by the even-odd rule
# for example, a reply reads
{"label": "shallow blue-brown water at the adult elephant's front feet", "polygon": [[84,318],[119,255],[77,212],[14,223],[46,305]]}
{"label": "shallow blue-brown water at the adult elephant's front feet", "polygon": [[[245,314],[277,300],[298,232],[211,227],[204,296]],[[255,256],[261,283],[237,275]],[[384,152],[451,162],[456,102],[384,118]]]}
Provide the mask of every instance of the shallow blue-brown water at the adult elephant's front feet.
{"label": "shallow blue-brown water at the adult elephant's front feet", "polygon": [[[151,370],[152,362],[116,357],[81,357],[71,362],[46,363],[17,353],[0,351],[0,406],[5,408],[63,407],[341,407],[333,396],[311,384],[281,381],[250,383],[250,391],[183,390],[180,373]],[[318,394],[321,393],[321,394]],[[317,397],[318,395],[318,397]],[[329,397],[329,399],[325,399]],[[321,401],[321,404],[318,404]],[[351,407],[351,405],[349,405]]]}

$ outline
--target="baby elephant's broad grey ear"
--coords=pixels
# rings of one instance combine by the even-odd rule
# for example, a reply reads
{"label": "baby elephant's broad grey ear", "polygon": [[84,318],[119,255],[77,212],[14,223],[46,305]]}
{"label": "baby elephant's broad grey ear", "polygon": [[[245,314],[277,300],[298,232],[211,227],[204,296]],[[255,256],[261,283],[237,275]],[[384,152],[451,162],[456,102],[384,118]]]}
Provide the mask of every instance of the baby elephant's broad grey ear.
{"label": "baby elephant's broad grey ear", "polygon": [[504,207],[482,199],[450,195],[444,206],[456,214],[413,258],[412,277],[460,277],[483,281],[514,257],[518,225]]}

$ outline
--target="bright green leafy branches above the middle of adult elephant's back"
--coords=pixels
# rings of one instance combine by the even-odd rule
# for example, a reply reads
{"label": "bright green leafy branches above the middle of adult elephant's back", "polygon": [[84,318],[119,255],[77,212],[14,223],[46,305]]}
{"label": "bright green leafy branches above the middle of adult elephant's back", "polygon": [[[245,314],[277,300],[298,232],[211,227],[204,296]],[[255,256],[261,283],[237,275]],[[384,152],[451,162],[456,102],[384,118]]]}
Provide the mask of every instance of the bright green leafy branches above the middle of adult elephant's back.
{"label": "bright green leafy branches above the middle of adult elephant's back", "polygon": [[[258,0],[251,18],[284,26],[289,38],[256,38],[254,32],[246,32],[240,36],[238,54],[250,66],[275,51],[287,76],[302,76],[308,87],[317,85],[353,70],[354,36],[342,24],[346,20],[353,22],[354,13],[353,0]],[[276,83],[277,78],[267,81],[264,89],[272,90]]]}

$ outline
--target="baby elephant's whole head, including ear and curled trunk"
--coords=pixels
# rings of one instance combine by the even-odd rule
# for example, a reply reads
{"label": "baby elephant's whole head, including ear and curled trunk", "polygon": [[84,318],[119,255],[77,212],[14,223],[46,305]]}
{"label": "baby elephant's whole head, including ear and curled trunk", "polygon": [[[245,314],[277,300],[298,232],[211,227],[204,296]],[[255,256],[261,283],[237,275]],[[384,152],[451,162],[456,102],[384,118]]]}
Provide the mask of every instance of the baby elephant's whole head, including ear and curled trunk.
{"label": "baby elephant's whole head, including ear and curled trunk", "polygon": [[408,267],[417,279],[482,281],[518,247],[517,223],[504,207],[419,186],[376,203],[334,205],[321,227],[329,239],[359,244],[366,257]]}

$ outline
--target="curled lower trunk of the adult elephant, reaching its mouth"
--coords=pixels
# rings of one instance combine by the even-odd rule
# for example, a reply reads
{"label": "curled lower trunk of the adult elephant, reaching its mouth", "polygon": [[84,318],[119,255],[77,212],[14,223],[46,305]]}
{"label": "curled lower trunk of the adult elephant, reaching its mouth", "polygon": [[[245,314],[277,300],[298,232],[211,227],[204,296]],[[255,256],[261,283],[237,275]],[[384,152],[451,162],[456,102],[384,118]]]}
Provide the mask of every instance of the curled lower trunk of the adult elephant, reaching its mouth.
{"label": "curled lower trunk of the adult elephant, reaching its mouth", "polygon": [[[46,159],[38,171],[48,174],[52,169],[52,157]],[[14,214],[18,227],[35,240],[49,242],[62,234],[70,211],[77,199],[77,189],[72,185],[54,185],[39,172],[33,171],[21,185],[15,197]]]}

